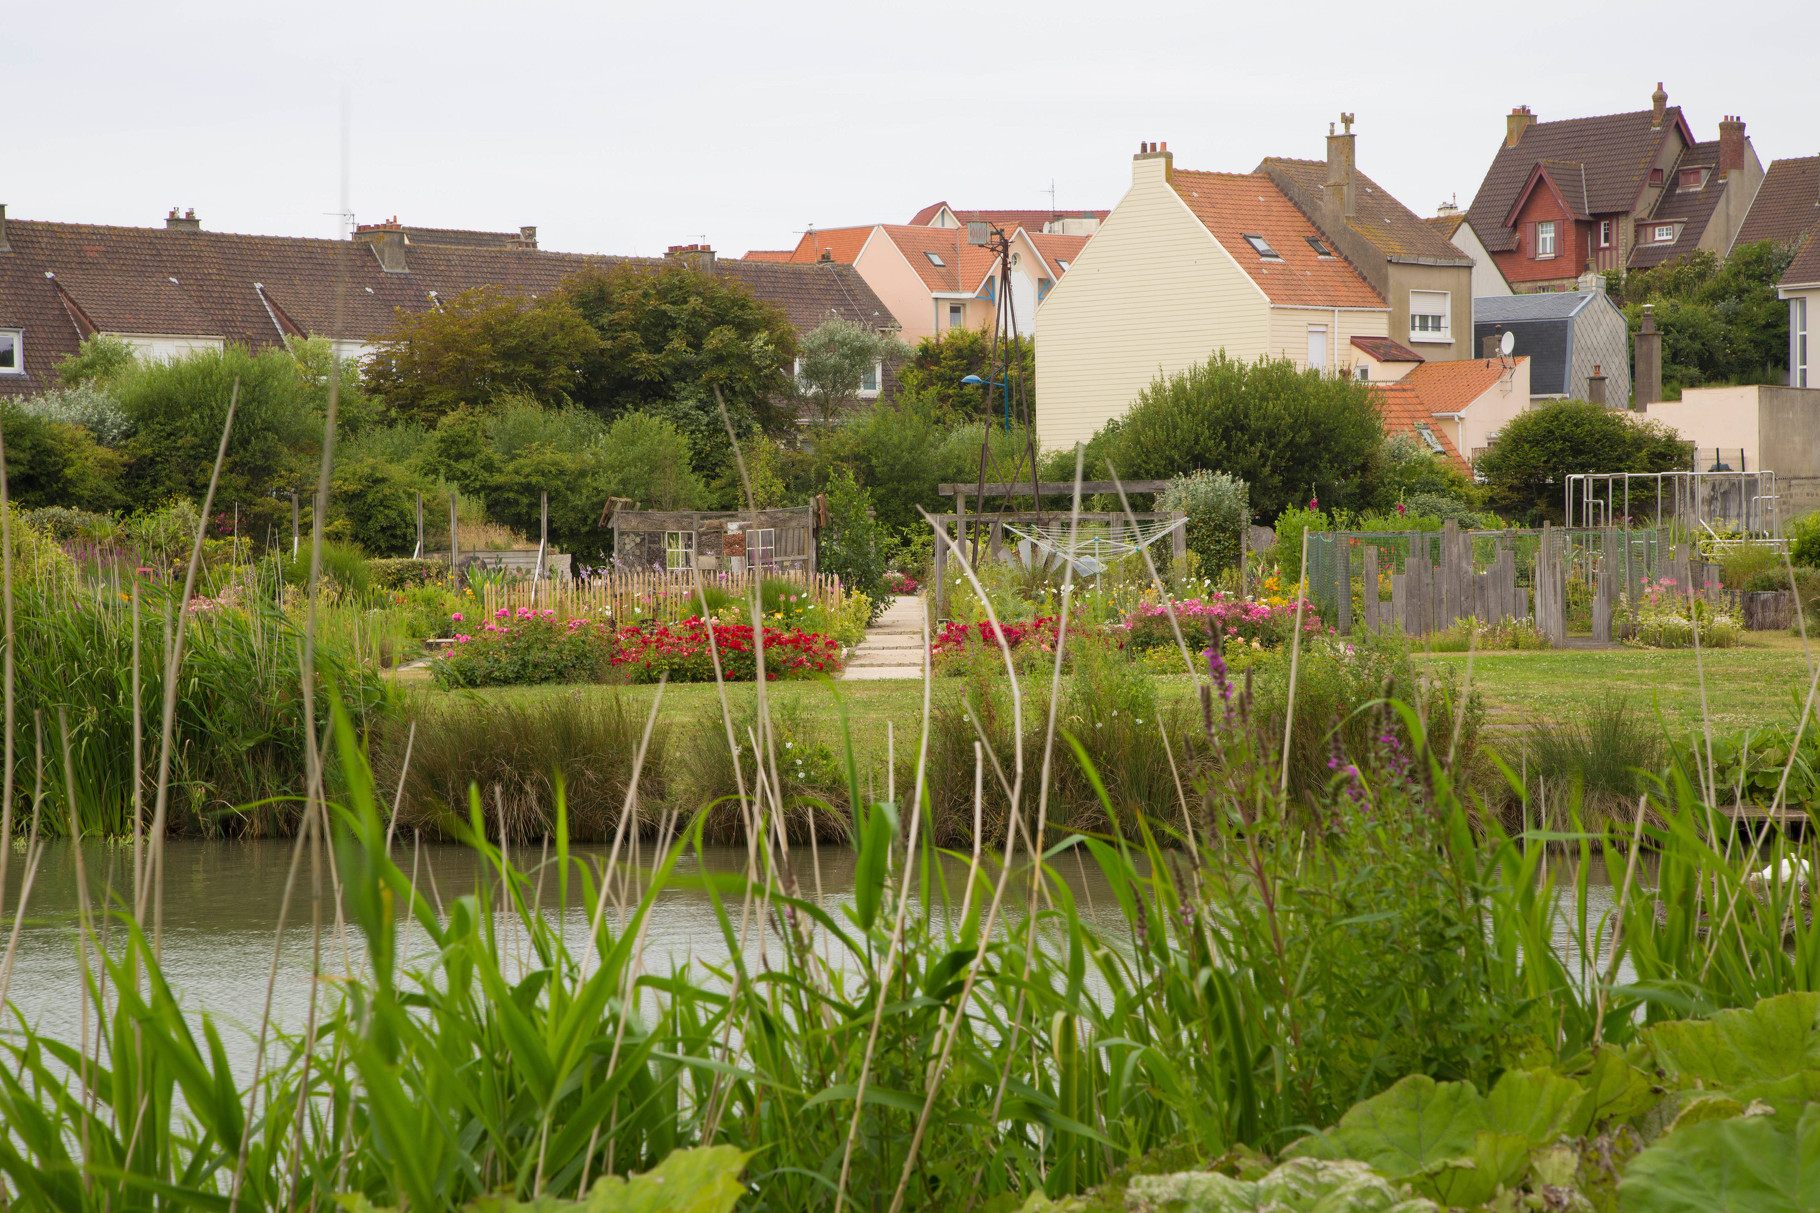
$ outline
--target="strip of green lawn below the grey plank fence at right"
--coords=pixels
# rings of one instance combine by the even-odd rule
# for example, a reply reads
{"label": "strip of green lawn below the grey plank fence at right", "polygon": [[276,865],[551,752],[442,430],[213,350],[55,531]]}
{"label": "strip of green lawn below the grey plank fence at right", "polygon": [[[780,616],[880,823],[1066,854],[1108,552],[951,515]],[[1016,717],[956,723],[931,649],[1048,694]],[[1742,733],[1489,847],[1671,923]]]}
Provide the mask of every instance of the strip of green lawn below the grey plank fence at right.
{"label": "strip of green lawn below the grey plank fence at right", "polygon": [[[1820,637],[1815,637],[1820,656]],[[1798,712],[1793,696],[1807,690],[1807,659],[1800,639],[1751,637],[1738,648],[1700,654],[1705,701],[1714,729],[1767,725]],[[1461,674],[1467,656],[1420,657]],[[1676,729],[1700,725],[1700,674],[1691,648],[1605,648],[1483,652],[1472,659],[1472,685],[1502,718],[1572,718],[1605,694],[1629,698],[1645,712],[1658,707]]]}

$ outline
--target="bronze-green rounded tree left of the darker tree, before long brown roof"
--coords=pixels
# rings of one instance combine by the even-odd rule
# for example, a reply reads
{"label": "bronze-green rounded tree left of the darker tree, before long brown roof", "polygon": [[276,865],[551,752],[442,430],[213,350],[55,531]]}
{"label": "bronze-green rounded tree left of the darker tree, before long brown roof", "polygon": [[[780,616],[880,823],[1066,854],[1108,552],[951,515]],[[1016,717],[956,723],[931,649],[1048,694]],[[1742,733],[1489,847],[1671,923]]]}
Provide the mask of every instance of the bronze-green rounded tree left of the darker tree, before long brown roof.
{"label": "bronze-green rounded tree left of the darker tree, before long brown roof", "polygon": [[399,324],[366,359],[366,386],[395,417],[435,424],[460,408],[531,395],[568,404],[601,339],[564,295],[524,299],[491,286],[462,291]]}

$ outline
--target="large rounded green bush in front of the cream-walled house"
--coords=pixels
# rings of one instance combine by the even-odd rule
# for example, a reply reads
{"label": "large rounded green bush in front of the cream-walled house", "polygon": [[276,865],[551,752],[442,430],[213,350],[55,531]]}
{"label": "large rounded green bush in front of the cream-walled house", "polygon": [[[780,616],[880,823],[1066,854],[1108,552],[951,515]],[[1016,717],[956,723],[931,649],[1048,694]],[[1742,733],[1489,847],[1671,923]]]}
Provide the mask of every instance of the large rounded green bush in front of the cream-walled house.
{"label": "large rounded green bush in front of the cream-walled house", "polygon": [[1099,472],[1110,463],[1134,481],[1225,472],[1250,486],[1252,514],[1269,523],[1310,495],[1327,506],[1367,501],[1381,444],[1370,384],[1221,350],[1152,381],[1088,454]]}

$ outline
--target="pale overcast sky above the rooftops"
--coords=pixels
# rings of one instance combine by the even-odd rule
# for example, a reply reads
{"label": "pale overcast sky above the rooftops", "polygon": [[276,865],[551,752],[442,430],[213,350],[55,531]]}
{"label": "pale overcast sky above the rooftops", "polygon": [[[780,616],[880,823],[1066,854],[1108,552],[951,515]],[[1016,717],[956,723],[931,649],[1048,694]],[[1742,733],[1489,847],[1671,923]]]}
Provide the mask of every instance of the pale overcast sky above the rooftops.
{"label": "pale overcast sky above the rooftops", "polygon": [[1420,215],[1467,206],[1503,115],[1745,118],[1820,153],[1820,5],[408,4],[16,0],[0,202],[16,219],[337,235],[340,113],[360,222],[515,229],[568,251],[723,255],[806,226],[1105,208],[1139,140],[1183,168],[1320,158]]}

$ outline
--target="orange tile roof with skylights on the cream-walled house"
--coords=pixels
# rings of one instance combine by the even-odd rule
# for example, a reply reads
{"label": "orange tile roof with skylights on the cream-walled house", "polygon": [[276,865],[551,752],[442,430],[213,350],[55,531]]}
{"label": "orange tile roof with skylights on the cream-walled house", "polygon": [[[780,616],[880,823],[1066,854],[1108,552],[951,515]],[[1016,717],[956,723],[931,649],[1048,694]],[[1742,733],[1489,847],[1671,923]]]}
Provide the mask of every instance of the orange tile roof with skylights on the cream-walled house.
{"label": "orange tile roof with skylights on the cream-walled house", "polygon": [[[1270,302],[1294,308],[1385,306],[1345,257],[1314,251],[1309,237],[1320,239],[1321,233],[1263,173],[1176,169],[1170,186]],[[1259,257],[1247,235],[1263,237],[1281,260]]]}

